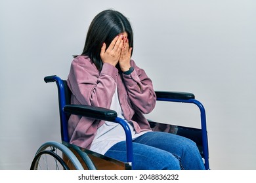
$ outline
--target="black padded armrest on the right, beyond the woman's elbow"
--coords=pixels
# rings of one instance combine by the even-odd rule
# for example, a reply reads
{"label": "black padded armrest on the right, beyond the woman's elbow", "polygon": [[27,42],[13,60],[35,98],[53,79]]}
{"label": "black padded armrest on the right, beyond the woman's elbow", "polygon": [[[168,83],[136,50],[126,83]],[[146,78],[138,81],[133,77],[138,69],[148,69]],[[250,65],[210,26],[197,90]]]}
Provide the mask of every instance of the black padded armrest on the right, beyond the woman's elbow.
{"label": "black padded armrest on the right, beyond the woman's elbow", "polygon": [[157,98],[165,98],[165,99],[177,99],[177,100],[188,100],[195,99],[195,95],[193,93],[188,92],[163,92],[163,91],[155,91]]}

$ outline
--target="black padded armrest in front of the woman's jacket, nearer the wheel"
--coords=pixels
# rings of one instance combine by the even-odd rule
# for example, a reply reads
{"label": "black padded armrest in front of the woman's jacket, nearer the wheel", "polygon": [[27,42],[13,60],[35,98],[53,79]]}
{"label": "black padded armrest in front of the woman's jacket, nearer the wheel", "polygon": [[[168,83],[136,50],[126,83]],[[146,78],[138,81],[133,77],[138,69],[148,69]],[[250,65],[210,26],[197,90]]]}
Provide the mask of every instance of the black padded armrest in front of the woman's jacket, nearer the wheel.
{"label": "black padded armrest in front of the woman's jacket, nearer the wheel", "polygon": [[69,114],[110,122],[117,117],[117,113],[114,110],[90,105],[65,105],[63,110]]}

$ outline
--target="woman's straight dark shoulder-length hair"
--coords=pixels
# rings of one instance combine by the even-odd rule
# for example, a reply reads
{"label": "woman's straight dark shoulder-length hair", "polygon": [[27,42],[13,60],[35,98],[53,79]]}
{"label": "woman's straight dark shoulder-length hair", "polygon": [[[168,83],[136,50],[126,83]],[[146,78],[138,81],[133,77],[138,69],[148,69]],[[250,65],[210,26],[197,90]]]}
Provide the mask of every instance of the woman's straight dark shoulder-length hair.
{"label": "woman's straight dark shoulder-length hair", "polygon": [[129,46],[133,47],[133,29],[129,20],[116,10],[104,10],[97,14],[89,26],[83,56],[89,56],[95,63],[97,69],[101,71],[102,60],[100,59],[100,49],[103,42],[106,48],[112,40],[120,33],[126,32],[128,35]]}

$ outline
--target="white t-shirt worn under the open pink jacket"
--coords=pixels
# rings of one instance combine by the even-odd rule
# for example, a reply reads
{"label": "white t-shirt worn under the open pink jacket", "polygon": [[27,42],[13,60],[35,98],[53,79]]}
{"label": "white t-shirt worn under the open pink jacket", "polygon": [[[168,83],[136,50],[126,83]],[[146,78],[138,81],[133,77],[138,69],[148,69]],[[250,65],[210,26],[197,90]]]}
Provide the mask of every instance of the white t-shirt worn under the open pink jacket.
{"label": "white t-shirt worn under the open pink jacket", "polygon": [[[123,120],[123,111],[121,110],[121,106],[119,104],[119,99],[117,95],[117,90],[113,95],[112,103],[110,109],[115,110],[117,112],[117,117],[122,118]],[[127,122],[127,120],[125,120]],[[142,131],[140,133],[136,133],[133,123],[127,122],[131,129],[131,135],[133,139],[136,139],[140,135],[148,131]],[[125,141],[125,131],[121,125],[106,121],[101,127],[97,129],[95,139],[91,144],[90,150],[94,152],[98,152],[99,154],[105,154],[109,148],[114,146],[117,142]]]}

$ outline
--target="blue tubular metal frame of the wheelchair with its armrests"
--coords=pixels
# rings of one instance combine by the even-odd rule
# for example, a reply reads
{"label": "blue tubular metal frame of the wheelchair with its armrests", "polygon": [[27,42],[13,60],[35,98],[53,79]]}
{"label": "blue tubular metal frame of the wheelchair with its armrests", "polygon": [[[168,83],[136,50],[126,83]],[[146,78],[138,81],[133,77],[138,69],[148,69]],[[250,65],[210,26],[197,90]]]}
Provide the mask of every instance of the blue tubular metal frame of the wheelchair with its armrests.
{"label": "blue tubular metal frame of the wheelchair with its armrests", "polygon": [[[127,123],[117,117],[116,111],[109,110],[101,107],[92,107],[88,105],[69,105],[66,104],[66,86],[64,86],[64,80],[60,77],[46,76],[44,78],[45,82],[56,82],[58,87],[58,101],[60,110],[60,121],[61,121],[61,136],[63,142],[70,142],[68,137],[68,118],[67,114],[75,114],[79,116],[86,116],[87,118],[95,118],[98,120],[107,120],[110,122],[116,122],[120,124],[126,135],[126,145],[127,145],[127,163],[129,166],[133,164],[133,143],[131,138],[131,129]],[[194,94],[184,93],[184,92],[157,92],[157,101],[169,101],[177,103],[192,103],[200,108],[201,114],[201,128],[202,128],[202,144],[203,144],[203,159],[205,164],[205,169],[209,169],[209,150],[208,150],[208,140],[207,140],[207,128],[206,128],[206,116],[205,108],[200,101],[196,100]]]}

